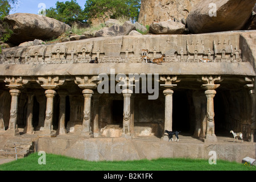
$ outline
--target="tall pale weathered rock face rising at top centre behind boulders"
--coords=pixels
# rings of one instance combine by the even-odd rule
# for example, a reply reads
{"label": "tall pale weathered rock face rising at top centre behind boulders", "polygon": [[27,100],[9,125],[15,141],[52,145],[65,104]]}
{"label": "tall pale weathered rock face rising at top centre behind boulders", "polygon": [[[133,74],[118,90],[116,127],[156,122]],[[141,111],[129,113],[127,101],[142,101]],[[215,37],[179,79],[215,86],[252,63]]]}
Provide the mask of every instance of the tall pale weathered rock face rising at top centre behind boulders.
{"label": "tall pale weathered rock face rising at top centre behind boulders", "polygon": [[150,25],[171,18],[186,19],[197,2],[199,0],[142,0],[138,22]]}

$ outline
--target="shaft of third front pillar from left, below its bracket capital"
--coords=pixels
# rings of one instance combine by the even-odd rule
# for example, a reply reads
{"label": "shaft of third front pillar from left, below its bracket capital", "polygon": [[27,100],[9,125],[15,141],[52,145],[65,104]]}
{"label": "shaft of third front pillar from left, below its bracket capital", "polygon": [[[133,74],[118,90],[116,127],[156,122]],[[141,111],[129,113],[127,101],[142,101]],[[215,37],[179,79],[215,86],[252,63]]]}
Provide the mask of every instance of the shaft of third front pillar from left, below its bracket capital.
{"label": "shaft of third front pillar from left, below its bracket capital", "polygon": [[93,137],[92,129],[90,127],[90,113],[91,113],[91,98],[93,94],[93,90],[84,89],[82,90],[82,94],[84,95],[84,118],[82,121],[82,131],[81,135],[85,137]]}

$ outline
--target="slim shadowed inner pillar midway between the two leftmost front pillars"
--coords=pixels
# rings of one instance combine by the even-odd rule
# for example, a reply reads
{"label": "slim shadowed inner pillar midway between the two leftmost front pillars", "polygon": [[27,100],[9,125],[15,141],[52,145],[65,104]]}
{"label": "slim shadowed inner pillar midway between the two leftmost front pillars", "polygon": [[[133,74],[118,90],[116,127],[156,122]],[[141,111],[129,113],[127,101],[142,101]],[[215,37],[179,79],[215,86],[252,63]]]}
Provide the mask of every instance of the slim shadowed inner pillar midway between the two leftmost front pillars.
{"label": "slim shadowed inner pillar midway between the two leftmost front pillars", "polygon": [[24,128],[24,133],[34,134],[33,122],[33,106],[34,106],[34,94],[28,94],[27,96],[27,123]]}

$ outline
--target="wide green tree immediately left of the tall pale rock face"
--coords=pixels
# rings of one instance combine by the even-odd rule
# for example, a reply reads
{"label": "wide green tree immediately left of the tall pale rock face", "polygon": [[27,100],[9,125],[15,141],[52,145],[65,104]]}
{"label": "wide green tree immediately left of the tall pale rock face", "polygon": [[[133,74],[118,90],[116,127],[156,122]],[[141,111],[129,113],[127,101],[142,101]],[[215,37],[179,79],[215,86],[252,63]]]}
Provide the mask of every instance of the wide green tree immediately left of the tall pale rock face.
{"label": "wide green tree immediately left of the tall pale rock face", "polygon": [[85,3],[84,13],[90,21],[102,18],[117,19],[126,16],[133,22],[138,19],[141,1],[139,0],[88,0]]}

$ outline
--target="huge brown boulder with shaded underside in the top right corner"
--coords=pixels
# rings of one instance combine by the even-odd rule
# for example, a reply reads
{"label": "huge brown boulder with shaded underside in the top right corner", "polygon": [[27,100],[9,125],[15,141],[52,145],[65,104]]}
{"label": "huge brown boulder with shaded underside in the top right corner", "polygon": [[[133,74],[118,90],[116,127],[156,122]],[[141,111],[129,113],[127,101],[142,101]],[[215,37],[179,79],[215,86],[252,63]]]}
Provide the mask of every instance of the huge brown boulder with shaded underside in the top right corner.
{"label": "huge brown boulder with shaded underside in the top right corner", "polygon": [[242,30],[255,3],[256,0],[201,0],[188,15],[188,29],[193,34]]}

